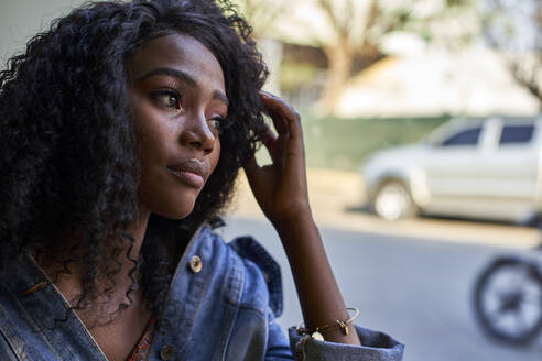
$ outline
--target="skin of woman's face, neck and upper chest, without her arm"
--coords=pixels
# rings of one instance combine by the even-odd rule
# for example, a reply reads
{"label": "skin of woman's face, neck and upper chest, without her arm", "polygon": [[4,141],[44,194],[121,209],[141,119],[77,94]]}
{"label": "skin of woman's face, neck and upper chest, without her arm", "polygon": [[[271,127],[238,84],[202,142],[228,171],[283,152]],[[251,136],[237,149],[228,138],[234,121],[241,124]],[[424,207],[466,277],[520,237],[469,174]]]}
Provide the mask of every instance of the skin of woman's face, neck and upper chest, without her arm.
{"label": "skin of woman's face, neck and upper chest, without her arm", "polygon": [[[150,41],[127,63],[129,95],[141,160],[140,219],[128,232],[138,258],[151,212],[171,219],[189,215],[205,182],[220,156],[219,118],[227,117],[227,98],[220,65],[214,55],[191,36],[175,34]],[[196,161],[203,173],[199,185],[187,183],[172,165]],[[189,175],[188,175],[189,176]],[[194,175],[193,175],[194,176]],[[130,287],[133,266],[124,256],[115,278],[111,299],[78,313],[108,360],[126,360],[139,341],[150,318],[142,291],[132,292],[132,306],[113,322],[105,324]],[[110,282],[104,280],[104,288]],[[77,272],[63,275],[57,288],[66,299],[76,299],[80,287]]]}

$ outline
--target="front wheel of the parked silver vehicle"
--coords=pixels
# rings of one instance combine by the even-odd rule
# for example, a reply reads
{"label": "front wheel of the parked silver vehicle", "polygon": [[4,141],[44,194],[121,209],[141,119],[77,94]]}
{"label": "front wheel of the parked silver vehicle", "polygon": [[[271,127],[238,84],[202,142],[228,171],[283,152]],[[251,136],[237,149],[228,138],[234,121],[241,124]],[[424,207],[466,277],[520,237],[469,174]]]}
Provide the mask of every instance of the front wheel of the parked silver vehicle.
{"label": "front wheel of the parked silver vehicle", "polygon": [[416,211],[409,189],[399,180],[383,183],[378,188],[371,206],[379,217],[387,220],[408,218]]}

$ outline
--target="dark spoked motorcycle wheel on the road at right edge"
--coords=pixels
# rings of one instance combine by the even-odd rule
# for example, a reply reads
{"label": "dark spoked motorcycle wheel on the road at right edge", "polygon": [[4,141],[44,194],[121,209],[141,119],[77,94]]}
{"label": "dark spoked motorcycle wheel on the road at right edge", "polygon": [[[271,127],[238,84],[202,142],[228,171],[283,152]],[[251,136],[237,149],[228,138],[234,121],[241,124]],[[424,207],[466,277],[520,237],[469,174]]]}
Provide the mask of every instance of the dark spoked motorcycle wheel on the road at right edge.
{"label": "dark spoked motorcycle wheel on the road at right edge", "polygon": [[542,275],[536,265],[497,259],[476,282],[474,310],[494,339],[511,344],[533,341],[542,331]]}

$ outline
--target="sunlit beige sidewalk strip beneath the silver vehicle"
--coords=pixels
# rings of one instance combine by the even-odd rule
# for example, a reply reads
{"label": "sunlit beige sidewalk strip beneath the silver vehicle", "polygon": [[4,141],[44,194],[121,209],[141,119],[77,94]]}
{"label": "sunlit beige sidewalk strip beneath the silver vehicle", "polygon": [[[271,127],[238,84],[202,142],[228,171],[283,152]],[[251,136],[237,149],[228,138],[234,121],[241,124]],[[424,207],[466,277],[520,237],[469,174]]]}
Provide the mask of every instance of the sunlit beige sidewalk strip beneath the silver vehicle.
{"label": "sunlit beige sidewalk strip beneath the silver vehicle", "polygon": [[[397,222],[384,221],[361,210],[362,182],[355,173],[310,168],[308,196],[318,226],[368,233],[419,238],[427,241],[451,241],[529,249],[539,243],[536,229],[509,225],[494,225],[467,220],[414,218]],[[230,206],[235,217],[263,219],[245,174],[237,185]]]}

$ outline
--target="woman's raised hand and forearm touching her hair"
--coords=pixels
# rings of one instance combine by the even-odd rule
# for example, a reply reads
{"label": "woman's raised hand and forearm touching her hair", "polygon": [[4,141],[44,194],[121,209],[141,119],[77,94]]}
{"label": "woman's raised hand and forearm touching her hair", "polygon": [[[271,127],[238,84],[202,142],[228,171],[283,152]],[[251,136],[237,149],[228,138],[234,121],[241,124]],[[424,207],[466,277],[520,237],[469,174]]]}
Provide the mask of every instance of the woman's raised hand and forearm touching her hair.
{"label": "woman's raised hand and forearm touching her hair", "polygon": [[[263,140],[272,164],[258,166],[252,157],[245,165],[250,187],[282,241],[306,327],[348,319],[308,206],[300,116],[269,92],[262,91],[260,96],[277,134],[269,128]],[[359,346],[354,326],[348,327],[347,335],[334,330],[326,333],[326,340]]]}

